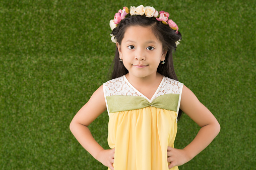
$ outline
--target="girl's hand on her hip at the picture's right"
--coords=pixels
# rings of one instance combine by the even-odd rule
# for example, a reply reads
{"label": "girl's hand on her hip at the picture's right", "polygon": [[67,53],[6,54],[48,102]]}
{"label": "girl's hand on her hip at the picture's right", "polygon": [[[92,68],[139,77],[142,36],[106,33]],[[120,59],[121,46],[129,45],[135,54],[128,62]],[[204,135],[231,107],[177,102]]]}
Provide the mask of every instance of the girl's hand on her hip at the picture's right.
{"label": "girl's hand on her hip at the picture's right", "polygon": [[174,166],[182,165],[190,160],[185,150],[175,149],[170,146],[167,148],[167,156],[167,161],[171,163],[168,166],[169,169]]}

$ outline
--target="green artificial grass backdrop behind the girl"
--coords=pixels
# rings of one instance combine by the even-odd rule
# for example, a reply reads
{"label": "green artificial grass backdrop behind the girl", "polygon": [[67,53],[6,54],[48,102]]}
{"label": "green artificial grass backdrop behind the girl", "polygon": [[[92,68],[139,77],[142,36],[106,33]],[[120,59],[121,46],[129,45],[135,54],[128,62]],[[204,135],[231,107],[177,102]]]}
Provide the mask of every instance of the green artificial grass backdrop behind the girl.
{"label": "green artificial grass backdrop behind the girl", "polygon": [[[69,124],[108,80],[114,56],[109,21],[126,6],[153,6],[177,23],[179,81],[218,119],[221,131],[179,169],[253,169],[254,1],[9,1],[0,3],[1,169],[106,169]],[[107,112],[89,127],[107,145]],[[176,148],[199,126],[185,114]]]}

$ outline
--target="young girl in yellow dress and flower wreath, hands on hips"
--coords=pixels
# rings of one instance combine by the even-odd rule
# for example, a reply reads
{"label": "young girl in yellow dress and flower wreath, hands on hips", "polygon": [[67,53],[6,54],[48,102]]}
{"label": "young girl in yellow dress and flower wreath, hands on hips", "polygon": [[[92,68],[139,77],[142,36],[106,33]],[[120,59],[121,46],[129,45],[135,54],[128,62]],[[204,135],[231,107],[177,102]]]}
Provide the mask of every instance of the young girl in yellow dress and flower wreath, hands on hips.
{"label": "young girl in yellow dress and flower wreath, hands on hips", "polygon": [[[110,27],[116,43],[112,80],[94,92],[70,129],[108,169],[178,169],[220,131],[212,113],[177,80],[172,52],[181,39],[178,27],[168,13],[143,6],[119,10]],[[106,109],[111,149],[105,150],[88,126]],[[201,129],[185,148],[176,149],[173,143],[181,110]]]}

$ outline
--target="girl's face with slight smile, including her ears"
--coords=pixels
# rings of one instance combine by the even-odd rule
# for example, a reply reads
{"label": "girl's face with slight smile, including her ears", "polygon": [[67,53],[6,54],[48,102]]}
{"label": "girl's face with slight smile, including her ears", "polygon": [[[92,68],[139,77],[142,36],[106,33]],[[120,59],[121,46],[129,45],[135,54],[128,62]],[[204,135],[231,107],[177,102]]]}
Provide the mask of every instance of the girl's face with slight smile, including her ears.
{"label": "girl's face with slight smile, including her ears", "polygon": [[156,76],[157,67],[160,61],[164,61],[167,53],[150,27],[127,28],[121,45],[116,45],[129,76],[138,78]]}

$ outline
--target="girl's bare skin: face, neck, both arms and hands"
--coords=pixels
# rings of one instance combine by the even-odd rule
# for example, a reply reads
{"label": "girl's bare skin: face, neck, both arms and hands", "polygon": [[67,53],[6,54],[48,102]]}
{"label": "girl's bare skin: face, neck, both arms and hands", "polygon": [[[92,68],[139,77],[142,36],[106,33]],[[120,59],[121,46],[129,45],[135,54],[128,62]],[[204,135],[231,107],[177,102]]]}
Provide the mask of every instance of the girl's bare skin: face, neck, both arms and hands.
{"label": "girl's bare skin: face, neck, both arms and hands", "polygon": [[[150,27],[131,26],[124,33],[121,45],[116,43],[119,57],[129,73],[127,80],[147,98],[151,99],[163,76],[157,73],[160,61],[164,61],[167,51],[155,37]],[[180,109],[193,119],[200,127],[197,136],[185,148],[176,149],[168,146],[167,161],[169,168],[182,165],[191,160],[220,131],[220,125],[213,114],[197,99],[195,94],[183,85]],[[103,149],[93,138],[88,126],[103,111],[106,103],[103,85],[99,87],[90,100],[73,118],[70,129],[81,145],[98,161],[111,170],[114,169],[114,148]]]}

